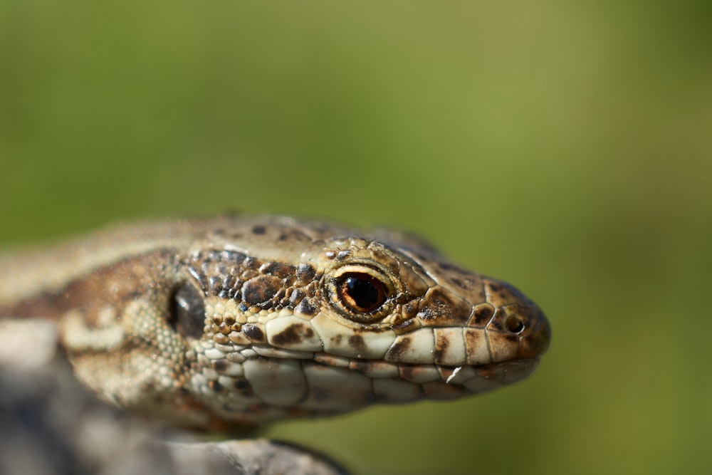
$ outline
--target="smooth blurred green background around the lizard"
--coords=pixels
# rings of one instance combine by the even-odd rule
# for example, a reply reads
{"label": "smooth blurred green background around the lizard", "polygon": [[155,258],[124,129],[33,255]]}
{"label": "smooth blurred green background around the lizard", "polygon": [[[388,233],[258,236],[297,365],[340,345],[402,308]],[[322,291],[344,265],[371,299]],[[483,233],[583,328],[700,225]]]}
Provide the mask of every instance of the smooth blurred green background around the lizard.
{"label": "smooth blurred green background around the lizard", "polygon": [[712,471],[704,1],[0,1],[0,241],[226,209],[417,231],[530,380],[276,424],[357,474]]}

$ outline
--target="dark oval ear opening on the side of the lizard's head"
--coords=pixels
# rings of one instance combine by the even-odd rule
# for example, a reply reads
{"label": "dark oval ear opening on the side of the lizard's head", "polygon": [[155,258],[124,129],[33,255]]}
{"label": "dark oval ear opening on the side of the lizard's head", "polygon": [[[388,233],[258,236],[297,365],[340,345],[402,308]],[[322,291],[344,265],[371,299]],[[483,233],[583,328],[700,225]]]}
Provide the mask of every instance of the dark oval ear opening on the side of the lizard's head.
{"label": "dark oval ear opening on the side of the lizard's head", "polygon": [[191,283],[177,286],[168,303],[168,323],[186,339],[198,339],[205,325],[202,293]]}

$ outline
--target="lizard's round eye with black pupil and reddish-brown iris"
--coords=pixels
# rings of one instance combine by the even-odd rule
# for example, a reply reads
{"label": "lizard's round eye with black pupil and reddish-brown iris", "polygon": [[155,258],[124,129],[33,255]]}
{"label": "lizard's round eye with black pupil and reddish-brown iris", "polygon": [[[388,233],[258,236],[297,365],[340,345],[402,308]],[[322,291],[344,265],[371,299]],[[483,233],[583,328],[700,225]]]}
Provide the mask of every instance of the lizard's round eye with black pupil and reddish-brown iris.
{"label": "lizard's round eye with black pupil and reddish-brown iris", "polygon": [[357,323],[372,323],[387,312],[395,294],[390,279],[377,268],[361,264],[342,266],[328,283],[332,305]]}

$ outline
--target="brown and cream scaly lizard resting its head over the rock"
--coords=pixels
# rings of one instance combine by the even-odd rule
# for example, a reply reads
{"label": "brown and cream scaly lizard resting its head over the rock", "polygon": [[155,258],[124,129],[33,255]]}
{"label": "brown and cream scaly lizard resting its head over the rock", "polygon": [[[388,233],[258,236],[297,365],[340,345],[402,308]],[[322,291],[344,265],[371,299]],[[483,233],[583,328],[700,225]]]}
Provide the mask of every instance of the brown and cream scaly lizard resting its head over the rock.
{"label": "brown and cream scaly lizard resting its head over the rock", "polygon": [[56,322],[104,400],[234,431],[493,390],[528,376],[550,340],[515,288],[412,236],[269,216],[125,226],[9,256],[0,315]]}

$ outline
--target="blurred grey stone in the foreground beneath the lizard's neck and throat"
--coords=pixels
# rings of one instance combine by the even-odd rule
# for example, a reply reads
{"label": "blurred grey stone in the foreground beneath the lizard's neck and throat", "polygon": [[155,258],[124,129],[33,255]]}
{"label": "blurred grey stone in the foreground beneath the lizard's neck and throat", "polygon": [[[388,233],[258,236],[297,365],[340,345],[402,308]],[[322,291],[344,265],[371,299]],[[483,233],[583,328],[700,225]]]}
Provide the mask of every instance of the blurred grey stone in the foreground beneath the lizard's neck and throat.
{"label": "blurred grey stone in the foreground beneath the lizard's neck and throat", "polygon": [[80,386],[55,337],[50,325],[0,322],[0,474],[347,475],[283,442],[151,429]]}

